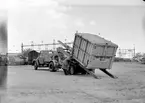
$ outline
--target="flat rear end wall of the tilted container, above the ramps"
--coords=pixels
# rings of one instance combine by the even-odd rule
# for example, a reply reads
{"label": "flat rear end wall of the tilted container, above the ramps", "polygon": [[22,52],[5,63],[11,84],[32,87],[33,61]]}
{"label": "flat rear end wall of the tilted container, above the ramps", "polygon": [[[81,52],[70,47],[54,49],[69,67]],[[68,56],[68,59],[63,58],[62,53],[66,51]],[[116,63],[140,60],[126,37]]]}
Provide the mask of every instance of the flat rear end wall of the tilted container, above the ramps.
{"label": "flat rear end wall of the tilted container, above the ramps", "polygon": [[108,46],[105,50],[105,45],[95,45],[92,51],[92,57],[88,64],[88,68],[106,68],[110,69],[112,58],[115,53],[115,47]]}

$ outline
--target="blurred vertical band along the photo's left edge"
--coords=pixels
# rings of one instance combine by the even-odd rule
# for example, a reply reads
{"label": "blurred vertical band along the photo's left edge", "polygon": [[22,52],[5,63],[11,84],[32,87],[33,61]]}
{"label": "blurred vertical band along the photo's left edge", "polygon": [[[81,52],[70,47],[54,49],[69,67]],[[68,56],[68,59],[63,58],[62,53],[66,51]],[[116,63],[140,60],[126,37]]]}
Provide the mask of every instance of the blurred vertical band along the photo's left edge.
{"label": "blurred vertical band along the photo's left edge", "polygon": [[4,102],[7,86],[7,10],[0,4],[0,103]]}

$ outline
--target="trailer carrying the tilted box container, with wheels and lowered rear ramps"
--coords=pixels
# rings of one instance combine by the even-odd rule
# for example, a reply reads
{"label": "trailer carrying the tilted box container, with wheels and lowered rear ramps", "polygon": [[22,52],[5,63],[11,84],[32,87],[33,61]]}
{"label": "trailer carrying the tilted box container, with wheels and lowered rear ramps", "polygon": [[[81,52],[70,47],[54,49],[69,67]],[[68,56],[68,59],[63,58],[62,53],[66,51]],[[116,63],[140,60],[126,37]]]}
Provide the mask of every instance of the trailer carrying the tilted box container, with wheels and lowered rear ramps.
{"label": "trailer carrying the tilted box container, with wheels and lowered rear ramps", "polygon": [[67,56],[62,63],[66,75],[88,73],[98,78],[95,69],[100,69],[110,77],[117,78],[107,69],[112,67],[118,45],[89,33],[76,33],[72,48],[61,41],[58,42],[64,47],[59,48],[58,52]]}

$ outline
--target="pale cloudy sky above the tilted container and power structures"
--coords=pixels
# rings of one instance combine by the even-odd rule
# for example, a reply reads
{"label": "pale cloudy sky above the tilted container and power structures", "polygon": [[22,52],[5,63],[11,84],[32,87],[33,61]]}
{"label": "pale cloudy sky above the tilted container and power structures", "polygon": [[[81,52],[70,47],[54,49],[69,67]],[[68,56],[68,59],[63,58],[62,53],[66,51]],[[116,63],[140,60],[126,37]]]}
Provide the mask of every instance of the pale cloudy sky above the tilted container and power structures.
{"label": "pale cloudy sky above the tilted container and power structures", "polygon": [[73,41],[76,31],[145,52],[142,0],[10,0],[3,8],[8,9],[9,52],[20,52],[21,43],[31,41]]}

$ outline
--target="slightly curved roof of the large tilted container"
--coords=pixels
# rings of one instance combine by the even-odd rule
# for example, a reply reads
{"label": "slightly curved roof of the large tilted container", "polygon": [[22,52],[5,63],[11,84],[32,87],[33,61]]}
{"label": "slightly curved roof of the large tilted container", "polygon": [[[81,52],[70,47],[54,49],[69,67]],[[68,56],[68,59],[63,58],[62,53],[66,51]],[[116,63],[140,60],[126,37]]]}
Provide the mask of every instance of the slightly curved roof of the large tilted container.
{"label": "slightly curved roof of the large tilted container", "polygon": [[112,43],[111,41],[106,40],[106,39],[104,39],[104,38],[102,38],[102,37],[100,37],[98,35],[95,35],[95,34],[90,34],[90,33],[76,33],[76,35],[79,35],[79,36],[83,37],[84,39],[90,41],[93,44],[106,45],[106,43],[107,43],[109,46],[118,47],[117,44]]}

